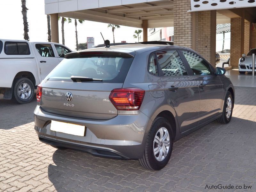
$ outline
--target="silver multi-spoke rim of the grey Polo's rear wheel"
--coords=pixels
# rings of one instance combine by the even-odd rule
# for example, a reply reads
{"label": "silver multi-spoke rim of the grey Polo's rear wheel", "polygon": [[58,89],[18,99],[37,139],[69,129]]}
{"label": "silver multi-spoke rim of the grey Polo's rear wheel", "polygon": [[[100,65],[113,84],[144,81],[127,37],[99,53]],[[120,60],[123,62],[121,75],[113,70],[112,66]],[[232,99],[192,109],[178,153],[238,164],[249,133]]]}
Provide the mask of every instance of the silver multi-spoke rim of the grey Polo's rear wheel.
{"label": "silver multi-spoke rim of the grey Polo's rear wheel", "polygon": [[161,127],[155,135],[153,153],[157,161],[163,161],[170,148],[170,135],[166,128]]}

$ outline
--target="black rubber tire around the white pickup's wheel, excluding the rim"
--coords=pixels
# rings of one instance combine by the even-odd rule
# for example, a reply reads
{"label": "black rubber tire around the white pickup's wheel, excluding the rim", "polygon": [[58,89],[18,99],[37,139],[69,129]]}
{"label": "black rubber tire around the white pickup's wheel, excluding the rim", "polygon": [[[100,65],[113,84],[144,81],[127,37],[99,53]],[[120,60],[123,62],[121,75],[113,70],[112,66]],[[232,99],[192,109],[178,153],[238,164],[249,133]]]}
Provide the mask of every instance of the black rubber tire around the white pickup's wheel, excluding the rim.
{"label": "black rubber tire around the white pickup's wheel, excluding the rim", "polygon": [[[20,84],[22,84],[22,83],[27,83],[30,86],[31,94],[29,95],[28,99],[21,99],[20,96],[18,95],[18,88],[19,88]],[[15,80],[14,87],[13,87],[13,95],[14,95],[15,100],[18,103],[20,103],[20,104],[29,103],[33,99],[34,93],[35,93],[34,84],[28,78],[24,77],[24,78]]]}

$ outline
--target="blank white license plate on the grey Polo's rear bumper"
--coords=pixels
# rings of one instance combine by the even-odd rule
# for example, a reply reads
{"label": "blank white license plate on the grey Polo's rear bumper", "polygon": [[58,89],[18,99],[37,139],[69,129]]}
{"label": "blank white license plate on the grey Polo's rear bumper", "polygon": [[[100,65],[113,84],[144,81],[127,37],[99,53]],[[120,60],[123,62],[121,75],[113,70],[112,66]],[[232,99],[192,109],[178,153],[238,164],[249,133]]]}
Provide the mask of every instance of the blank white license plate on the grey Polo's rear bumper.
{"label": "blank white license plate on the grey Polo's rear bumper", "polygon": [[85,126],[64,123],[59,121],[52,121],[51,128],[52,131],[67,133],[71,135],[84,136]]}

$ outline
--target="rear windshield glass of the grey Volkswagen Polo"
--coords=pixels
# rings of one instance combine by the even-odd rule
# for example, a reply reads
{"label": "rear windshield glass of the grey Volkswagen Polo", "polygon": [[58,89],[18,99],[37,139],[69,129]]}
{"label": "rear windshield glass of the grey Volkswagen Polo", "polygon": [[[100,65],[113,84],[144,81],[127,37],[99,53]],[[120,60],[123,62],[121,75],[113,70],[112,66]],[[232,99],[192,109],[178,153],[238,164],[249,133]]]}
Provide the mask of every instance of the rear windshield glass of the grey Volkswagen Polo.
{"label": "rear windshield glass of the grey Volkswagen Polo", "polygon": [[[102,83],[124,83],[133,57],[87,56],[64,59],[44,80],[72,81],[71,76],[102,79]],[[100,81],[86,81],[99,83]]]}

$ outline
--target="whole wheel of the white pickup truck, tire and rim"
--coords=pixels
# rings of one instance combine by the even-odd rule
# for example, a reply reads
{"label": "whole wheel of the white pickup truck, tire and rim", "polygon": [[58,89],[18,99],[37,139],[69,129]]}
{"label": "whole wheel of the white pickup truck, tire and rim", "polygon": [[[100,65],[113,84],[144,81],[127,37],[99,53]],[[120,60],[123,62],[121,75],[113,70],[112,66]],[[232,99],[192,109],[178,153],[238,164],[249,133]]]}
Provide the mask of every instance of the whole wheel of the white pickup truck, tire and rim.
{"label": "whole wheel of the white pickup truck, tire and rim", "polygon": [[15,81],[13,95],[18,103],[29,103],[33,99],[34,92],[34,85],[28,78],[24,77]]}

